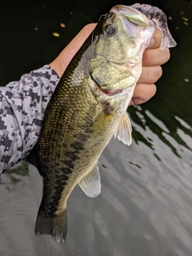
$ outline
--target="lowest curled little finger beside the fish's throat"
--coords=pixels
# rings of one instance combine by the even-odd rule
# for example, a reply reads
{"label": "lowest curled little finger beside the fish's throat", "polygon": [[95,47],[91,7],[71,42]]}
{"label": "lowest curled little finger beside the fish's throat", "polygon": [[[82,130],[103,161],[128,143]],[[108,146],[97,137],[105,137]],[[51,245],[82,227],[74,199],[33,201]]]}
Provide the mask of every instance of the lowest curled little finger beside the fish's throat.
{"label": "lowest curled little finger beside the fish's throat", "polygon": [[154,84],[138,83],[134,89],[130,105],[139,105],[147,102],[156,93],[157,87]]}

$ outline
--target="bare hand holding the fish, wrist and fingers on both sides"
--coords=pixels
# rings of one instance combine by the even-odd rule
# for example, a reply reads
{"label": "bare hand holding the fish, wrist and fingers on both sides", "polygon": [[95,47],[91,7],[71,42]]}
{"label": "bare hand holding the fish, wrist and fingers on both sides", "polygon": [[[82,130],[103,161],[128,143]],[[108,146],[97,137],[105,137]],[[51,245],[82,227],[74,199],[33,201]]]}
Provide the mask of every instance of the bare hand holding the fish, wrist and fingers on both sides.
{"label": "bare hand holding the fish, wrist and fingers on both sides", "polygon": [[[66,66],[68,66],[70,60],[74,57],[74,54],[77,53],[83,42],[94,30],[95,26],[96,23],[84,26],[69,45],[62,50],[58,58],[55,58],[55,60],[50,63],[50,66],[57,72],[60,78],[66,70]],[[154,34],[154,38],[150,42],[150,46],[144,51],[142,58],[142,74],[135,86],[130,105],[138,105],[147,102],[156,93],[157,88],[154,82],[157,82],[162,76],[161,65],[166,63],[170,58],[170,50],[168,48],[159,50],[161,42],[162,33],[160,30],[157,30]]]}

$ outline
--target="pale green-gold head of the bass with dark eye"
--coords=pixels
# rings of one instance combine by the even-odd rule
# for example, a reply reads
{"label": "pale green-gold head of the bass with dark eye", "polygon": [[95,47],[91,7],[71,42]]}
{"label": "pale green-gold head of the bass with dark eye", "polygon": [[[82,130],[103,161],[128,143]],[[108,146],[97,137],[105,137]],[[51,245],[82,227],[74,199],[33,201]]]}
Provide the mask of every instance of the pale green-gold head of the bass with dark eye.
{"label": "pale green-gold head of the bass with dark eye", "polygon": [[101,17],[90,50],[90,87],[95,94],[117,97],[130,87],[132,97],[142,54],[155,30],[152,20],[130,6],[114,6]]}

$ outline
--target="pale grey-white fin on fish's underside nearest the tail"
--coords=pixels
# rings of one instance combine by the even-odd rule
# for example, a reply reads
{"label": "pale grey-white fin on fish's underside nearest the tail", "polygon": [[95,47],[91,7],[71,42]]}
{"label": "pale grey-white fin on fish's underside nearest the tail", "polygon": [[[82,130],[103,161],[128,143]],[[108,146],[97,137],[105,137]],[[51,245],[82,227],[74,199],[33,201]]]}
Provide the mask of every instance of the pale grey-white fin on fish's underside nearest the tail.
{"label": "pale grey-white fin on fish's underside nearest the tail", "polygon": [[82,178],[78,185],[81,187],[82,191],[90,198],[95,198],[101,192],[101,182],[100,174],[98,172],[98,163],[94,165],[93,170],[89,174],[86,174]]}

